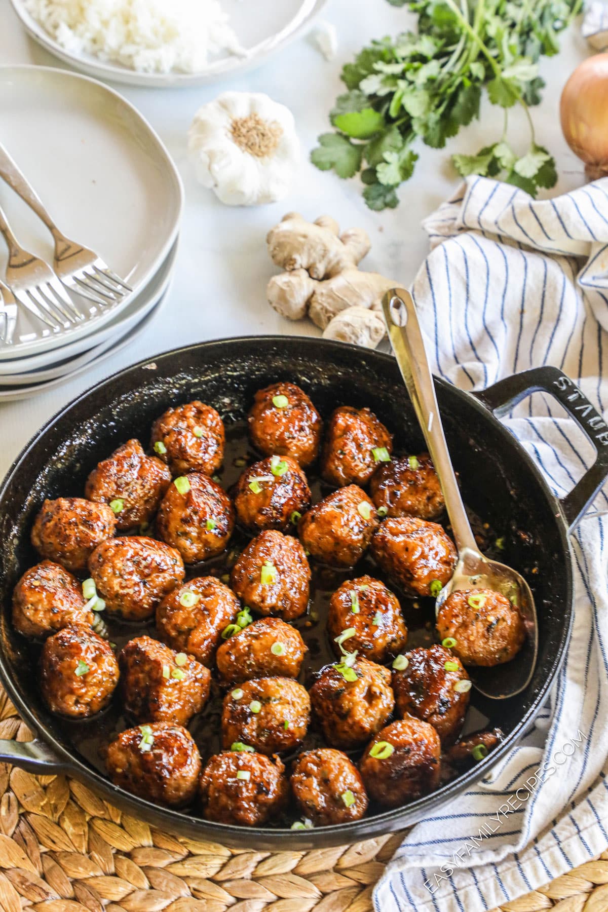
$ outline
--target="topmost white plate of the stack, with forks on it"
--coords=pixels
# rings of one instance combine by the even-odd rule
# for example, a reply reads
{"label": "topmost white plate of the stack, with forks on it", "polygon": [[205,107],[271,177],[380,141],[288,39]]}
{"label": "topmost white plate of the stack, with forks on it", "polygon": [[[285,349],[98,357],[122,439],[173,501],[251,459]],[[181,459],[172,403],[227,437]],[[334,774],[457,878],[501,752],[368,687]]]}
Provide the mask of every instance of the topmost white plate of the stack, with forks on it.
{"label": "topmost white plate of the stack, with forks on it", "polygon": [[[3,143],[59,228],[97,251],[133,287],[119,304],[60,333],[21,317],[13,345],[0,345],[0,360],[13,360],[88,336],[129,306],[169,254],[183,190],[148,122],[94,79],[54,67],[0,67],[0,110]],[[50,233],[2,182],[0,202],[21,244],[52,262]],[[3,243],[2,276],[5,262]],[[84,299],[75,300],[84,311]]]}

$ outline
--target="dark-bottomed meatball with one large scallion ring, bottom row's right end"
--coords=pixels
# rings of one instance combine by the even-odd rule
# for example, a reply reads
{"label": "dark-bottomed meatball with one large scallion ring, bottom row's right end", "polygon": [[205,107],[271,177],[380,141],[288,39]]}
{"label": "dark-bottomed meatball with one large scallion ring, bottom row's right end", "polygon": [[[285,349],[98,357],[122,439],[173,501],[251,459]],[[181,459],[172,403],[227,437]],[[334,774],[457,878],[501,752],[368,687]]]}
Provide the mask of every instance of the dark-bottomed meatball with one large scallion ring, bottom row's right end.
{"label": "dark-bottomed meatball with one large scallion ring, bottom row's right end", "polygon": [[371,798],[386,807],[398,807],[438,787],[440,755],[433,726],[407,716],[376,734],[359,770]]}

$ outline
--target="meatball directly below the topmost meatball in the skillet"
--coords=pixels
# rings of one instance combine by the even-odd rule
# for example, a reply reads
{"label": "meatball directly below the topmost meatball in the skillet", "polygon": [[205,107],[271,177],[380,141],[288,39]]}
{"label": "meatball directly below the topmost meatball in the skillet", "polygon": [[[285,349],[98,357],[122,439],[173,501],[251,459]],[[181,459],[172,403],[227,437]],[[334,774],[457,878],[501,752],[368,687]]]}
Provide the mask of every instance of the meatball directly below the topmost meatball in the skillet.
{"label": "meatball directly below the topmost meatball in the skillet", "polygon": [[253,462],[234,488],[236,515],[252,534],[263,529],[286,532],[293,524],[294,513],[304,513],[309,504],[306,476],[291,456]]}

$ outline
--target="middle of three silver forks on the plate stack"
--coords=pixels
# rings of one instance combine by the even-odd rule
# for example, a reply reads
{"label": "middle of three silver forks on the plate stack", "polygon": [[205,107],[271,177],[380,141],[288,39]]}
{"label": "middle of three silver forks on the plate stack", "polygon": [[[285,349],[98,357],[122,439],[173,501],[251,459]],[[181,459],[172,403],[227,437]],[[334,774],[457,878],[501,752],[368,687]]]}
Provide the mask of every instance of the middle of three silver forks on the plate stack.
{"label": "middle of three silver forks on the plate stack", "polygon": [[[17,301],[54,331],[81,320],[82,315],[78,313],[51,267],[18,244],[1,207],[0,233],[4,235],[8,246],[6,284],[10,286]],[[57,314],[60,315],[59,318]]]}

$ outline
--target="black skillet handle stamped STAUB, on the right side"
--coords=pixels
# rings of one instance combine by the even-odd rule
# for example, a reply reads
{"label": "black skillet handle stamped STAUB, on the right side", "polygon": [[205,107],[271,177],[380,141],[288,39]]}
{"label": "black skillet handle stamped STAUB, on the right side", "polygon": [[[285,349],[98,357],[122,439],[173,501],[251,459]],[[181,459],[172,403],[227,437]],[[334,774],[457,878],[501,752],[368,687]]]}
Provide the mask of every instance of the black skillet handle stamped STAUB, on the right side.
{"label": "black skillet handle stamped STAUB, on the right side", "polygon": [[497,418],[501,418],[533,392],[549,393],[557,399],[595,448],[596,458],[593,465],[574,485],[572,491],[560,501],[569,532],[572,533],[608,478],[608,424],[560,368],[524,370],[520,374],[499,380],[488,389],[480,389],[474,395],[494,412]]}

